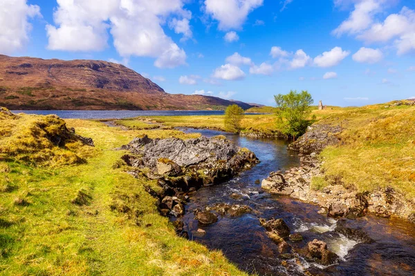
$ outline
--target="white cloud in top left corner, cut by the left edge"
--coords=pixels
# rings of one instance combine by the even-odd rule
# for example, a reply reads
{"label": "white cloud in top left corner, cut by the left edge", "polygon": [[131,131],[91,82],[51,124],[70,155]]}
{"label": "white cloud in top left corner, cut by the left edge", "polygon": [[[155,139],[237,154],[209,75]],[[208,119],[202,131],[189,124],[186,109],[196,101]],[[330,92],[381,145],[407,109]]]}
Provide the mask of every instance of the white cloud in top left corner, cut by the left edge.
{"label": "white cloud in top left corner, cut by the left edge", "polygon": [[37,5],[27,5],[26,0],[0,1],[0,53],[11,54],[29,41],[32,25],[29,19],[42,17]]}

